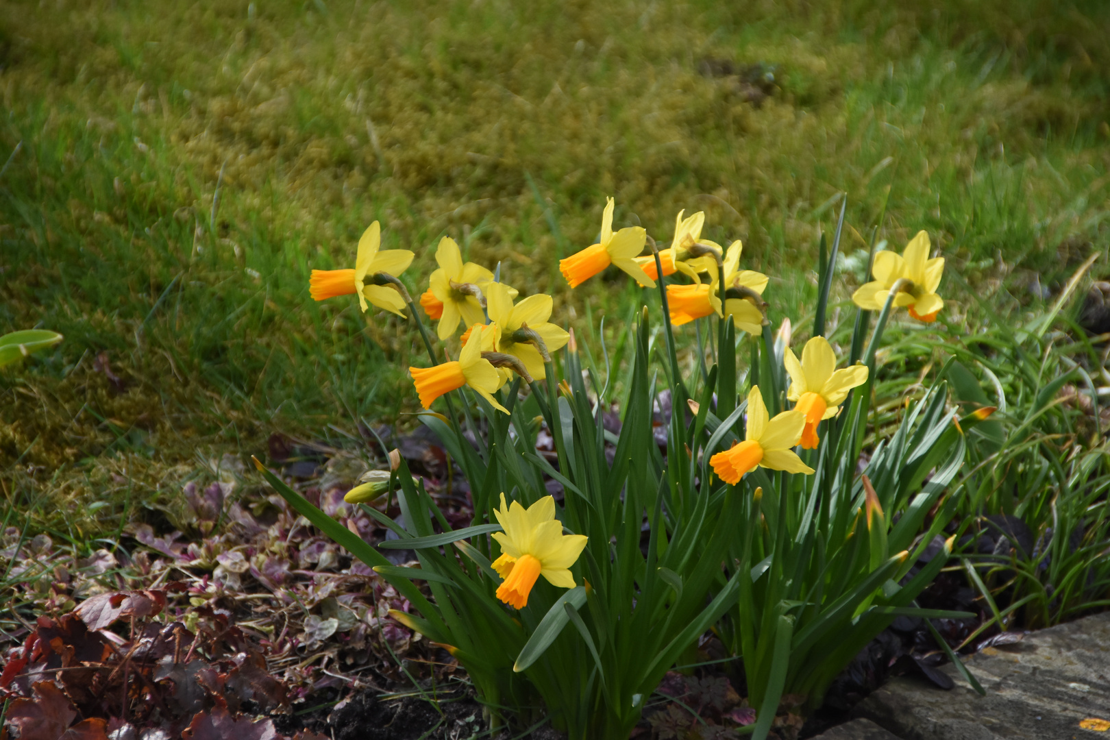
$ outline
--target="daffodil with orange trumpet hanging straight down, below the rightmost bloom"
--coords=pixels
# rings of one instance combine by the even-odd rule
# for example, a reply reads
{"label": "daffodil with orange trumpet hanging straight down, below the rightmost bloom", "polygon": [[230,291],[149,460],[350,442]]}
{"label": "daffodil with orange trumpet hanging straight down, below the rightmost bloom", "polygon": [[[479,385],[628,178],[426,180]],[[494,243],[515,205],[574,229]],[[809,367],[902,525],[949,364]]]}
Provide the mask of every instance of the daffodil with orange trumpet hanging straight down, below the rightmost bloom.
{"label": "daffodil with orange trumpet hanging straight down, below the rightmost bloom", "polygon": [[787,398],[794,402],[794,409],[806,416],[801,432],[801,447],[815,449],[820,440],[817,425],[821,419],[833,418],[840,410],[848,392],[867,382],[867,366],[836,368],[836,354],[824,336],[815,336],[801,349],[801,362],[794,351],[786,348],[783,357],[786,372],[790,375],[790,391]]}

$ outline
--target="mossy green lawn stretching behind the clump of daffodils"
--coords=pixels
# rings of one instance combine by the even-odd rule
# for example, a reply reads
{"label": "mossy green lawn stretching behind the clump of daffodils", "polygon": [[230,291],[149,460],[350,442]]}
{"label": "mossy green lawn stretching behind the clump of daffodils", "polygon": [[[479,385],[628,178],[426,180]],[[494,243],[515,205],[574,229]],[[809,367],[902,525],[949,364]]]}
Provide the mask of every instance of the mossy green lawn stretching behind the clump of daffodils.
{"label": "mossy green lawn stretching behind the clump of daffodils", "polygon": [[414,294],[450,234],[588,336],[639,300],[557,273],[606,195],[660,241],[705,210],[774,320],[847,192],[841,298],[885,207],[952,321],[1036,307],[1107,249],[1107,70],[1101,0],[3,3],[0,333],[65,341],[0,375],[0,485],[111,534],[198,457],[414,410],[412,332],[307,294],[374,219]]}

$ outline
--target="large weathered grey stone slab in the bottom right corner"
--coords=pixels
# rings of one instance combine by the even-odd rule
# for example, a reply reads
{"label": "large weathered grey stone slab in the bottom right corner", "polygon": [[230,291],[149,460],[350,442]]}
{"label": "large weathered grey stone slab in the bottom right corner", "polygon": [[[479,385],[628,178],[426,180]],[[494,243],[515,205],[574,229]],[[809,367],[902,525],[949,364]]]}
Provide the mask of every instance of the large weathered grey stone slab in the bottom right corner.
{"label": "large weathered grey stone slab in the bottom right corner", "polygon": [[951,691],[898,678],[855,711],[902,740],[1082,740],[1110,733],[1080,728],[1110,720],[1110,612],[987,648],[966,660],[986,697],[957,672]]}

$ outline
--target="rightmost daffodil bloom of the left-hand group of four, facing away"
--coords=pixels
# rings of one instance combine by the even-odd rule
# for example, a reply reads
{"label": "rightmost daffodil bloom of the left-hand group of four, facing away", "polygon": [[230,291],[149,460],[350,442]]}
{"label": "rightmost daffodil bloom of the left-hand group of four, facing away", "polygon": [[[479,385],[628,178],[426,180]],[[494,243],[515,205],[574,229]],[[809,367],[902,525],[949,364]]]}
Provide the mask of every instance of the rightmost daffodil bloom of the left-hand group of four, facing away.
{"label": "rightmost daffodil bloom of the left-hand group of four, facing away", "polygon": [[533,379],[547,377],[549,353],[562,349],[571,336],[547,321],[554,305],[552,296],[529,295],[514,306],[508,286],[491,283],[486,301],[490,321],[501,327],[497,349],[518,357]]}

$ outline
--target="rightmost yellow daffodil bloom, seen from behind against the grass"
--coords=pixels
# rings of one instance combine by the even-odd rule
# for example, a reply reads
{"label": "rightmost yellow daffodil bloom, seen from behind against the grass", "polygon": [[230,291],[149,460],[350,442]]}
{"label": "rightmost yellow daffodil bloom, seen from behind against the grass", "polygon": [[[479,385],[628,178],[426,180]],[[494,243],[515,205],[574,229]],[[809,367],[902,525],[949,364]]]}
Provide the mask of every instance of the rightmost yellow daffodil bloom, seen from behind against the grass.
{"label": "rightmost yellow daffodil bloom, seen from behind against the grass", "polygon": [[857,290],[851,300],[866,311],[881,311],[895,292],[895,306],[908,306],[914,318],[934,322],[945,307],[944,298],[937,295],[944,272],[945,259],[929,259],[929,235],[919,231],[900,255],[887,251],[875,255],[875,280]]}

